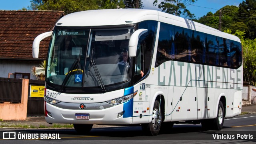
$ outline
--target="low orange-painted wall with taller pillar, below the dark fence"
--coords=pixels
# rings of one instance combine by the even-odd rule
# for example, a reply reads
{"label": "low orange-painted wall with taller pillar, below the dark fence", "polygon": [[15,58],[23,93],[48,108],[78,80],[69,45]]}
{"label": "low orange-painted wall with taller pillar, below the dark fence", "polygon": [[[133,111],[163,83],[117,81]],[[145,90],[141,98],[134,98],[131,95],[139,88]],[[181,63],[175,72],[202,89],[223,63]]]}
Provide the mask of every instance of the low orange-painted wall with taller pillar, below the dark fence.
{"label": "low orange-painted wall with taller pillar, below the dark fence", "polygon": [[26,120],[28,106],[28,79],[22,79],[22,96],[20,104],[5,102],[0,104],[0,119]]}

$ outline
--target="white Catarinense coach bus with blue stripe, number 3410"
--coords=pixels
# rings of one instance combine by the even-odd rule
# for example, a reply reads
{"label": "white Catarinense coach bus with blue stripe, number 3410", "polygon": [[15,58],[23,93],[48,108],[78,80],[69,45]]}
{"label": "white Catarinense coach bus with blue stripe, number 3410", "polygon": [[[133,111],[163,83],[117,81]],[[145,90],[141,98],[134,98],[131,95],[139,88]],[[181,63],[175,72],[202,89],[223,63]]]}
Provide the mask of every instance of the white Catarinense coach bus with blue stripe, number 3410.
{"label": "white Catarinense coach bus with blue stripe, number 3410", "polygon": [[88,10],[62,17],[46,62],[45,118],[89,132],[93,124],[141,125],[147,134],[174,123],[221,130],[241,113],[238,37],[156,10]]}

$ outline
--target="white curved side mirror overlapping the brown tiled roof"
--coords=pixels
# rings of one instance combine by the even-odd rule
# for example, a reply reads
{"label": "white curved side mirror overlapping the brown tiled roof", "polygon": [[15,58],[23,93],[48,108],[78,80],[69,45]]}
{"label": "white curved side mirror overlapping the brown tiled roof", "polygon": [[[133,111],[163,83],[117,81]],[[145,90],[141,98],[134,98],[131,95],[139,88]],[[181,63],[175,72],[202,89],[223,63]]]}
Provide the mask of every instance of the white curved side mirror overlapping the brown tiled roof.
{"label": "white curved side mirror overlapping the brown tiled roof", "polygon": [[48,36],[52,36],[52,31],[42,33],[34,39],[33,46],[32,46],[33,58],[38,58],[40,42],[41,40],[43,40],[44,38],[47,38]]}

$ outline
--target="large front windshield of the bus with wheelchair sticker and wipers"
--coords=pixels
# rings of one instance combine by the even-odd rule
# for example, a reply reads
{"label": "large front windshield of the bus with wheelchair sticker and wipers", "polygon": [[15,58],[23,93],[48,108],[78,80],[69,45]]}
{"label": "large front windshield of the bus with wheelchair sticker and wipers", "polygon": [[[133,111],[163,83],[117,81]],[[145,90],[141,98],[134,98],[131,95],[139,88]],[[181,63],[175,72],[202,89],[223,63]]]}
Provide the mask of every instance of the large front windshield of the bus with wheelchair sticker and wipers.
{"label": "large front windshield of the bus with wheelchair sticker and wipers", "polygon": [[48,52],[46,82],[94,87],[128,80],[128,43],[132,32],[132,26],[95,30],[56,28]]}

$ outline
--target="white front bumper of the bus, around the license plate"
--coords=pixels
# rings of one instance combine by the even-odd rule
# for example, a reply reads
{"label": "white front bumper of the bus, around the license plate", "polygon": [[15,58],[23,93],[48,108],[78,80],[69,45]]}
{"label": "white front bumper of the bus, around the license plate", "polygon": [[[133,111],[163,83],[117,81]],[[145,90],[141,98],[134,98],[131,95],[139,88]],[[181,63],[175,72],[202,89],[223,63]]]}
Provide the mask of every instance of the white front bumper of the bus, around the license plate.
{"label": "white front bumper of the bus, around the license plate", "polygon": [[[48,123],[63,124],[132,124],[132,116],[117,118],[118,113],[125,111],[124,103],[102,110],[70,110],[58,108],[46,103],[46,110],[51,113],[45,117]],[[75,114],[90,114],[89,120],[76,120]]]}

